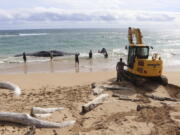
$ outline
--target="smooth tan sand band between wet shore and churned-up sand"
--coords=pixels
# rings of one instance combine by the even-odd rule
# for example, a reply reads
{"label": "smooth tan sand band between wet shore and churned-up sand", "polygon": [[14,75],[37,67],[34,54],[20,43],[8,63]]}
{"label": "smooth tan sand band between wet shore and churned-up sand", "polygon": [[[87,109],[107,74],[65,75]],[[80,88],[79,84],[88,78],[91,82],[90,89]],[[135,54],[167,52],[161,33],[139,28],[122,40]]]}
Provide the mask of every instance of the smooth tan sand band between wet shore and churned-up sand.
{"label": "smooth tan sand band between wet shore and churned-up sand", "polygon": [[[170,84],[179,85],[180,71],[164,72]],[[91,83],[105,82],[116,78],[116,71],[96,72],[63,72],[63,73],[31,73],[31,74],[1,74],[0,81],[12,82],[22,89],[38,89],[41,87],[56,88],[87,85]]]}

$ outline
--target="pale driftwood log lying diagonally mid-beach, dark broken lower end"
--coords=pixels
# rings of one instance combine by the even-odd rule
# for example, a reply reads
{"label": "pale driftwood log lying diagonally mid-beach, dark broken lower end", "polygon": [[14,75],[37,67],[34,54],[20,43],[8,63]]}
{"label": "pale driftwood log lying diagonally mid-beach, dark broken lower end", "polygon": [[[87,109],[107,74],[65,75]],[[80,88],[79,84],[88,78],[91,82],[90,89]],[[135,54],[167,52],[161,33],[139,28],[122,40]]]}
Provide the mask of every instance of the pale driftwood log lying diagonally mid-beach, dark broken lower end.
{"label": "pale driftwood log lying diagonally mid-beach, dark broken lower end", "polygon": [[82,113],[86,113],[97,107],[99,104],[103,103],[107,98],[108,94],[101,94],[94,100],[82,106]]}

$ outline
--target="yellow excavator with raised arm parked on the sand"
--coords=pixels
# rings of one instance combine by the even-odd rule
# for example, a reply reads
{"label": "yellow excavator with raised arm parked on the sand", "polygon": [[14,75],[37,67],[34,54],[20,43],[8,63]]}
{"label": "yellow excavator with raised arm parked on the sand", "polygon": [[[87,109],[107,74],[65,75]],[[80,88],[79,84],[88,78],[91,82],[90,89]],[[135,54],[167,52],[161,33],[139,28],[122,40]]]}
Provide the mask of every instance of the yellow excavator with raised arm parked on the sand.
{"label": "yellow excavator with raised arm parked on the sand", "polygon": [[[133,41],[136,38],[136,43]],[[153,47],[143,44],[142,34],[139,28],[128,29],[128,58],[127,58],[127,71],[125,78],[133,81],[139,85],[147,79],[156,79],[163,85],[168,84],[168,80],[162,75],[163,61],[161,57],[155,53],[149,56],[149,51]]]}

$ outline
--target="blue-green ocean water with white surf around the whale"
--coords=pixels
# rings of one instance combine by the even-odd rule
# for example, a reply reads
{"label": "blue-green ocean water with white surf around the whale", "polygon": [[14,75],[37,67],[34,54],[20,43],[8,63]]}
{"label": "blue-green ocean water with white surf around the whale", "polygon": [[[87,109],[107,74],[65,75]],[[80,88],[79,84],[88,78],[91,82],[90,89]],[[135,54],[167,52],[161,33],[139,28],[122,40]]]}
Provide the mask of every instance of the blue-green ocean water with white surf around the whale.
{"label": "blue-green ocean water with white surf around the whale", "polygon": [[[164,61],[165,69],[180,66],[180,31],[178,30],[141,30],[143,43],[153,46],[152,53],[159,53]],[[14,57],[23,52],[59,50],[79,52],[82,67],[88,52],[94,54],[93,67],[115,67],[120,57],[126,61],[128,45],[127,29],[44,29],[44,30],[5,30],[0,31],[0,70],[13,64],[22,63],[22,57]],[[97,51],[106,48],[109,59],[104,60]],[[73,61],[74,56],[56,58],[56,61]],[[45,62],[49,58],[28,57],[28,62]],[[8,66],[7,66],[8,65]],[[92,66],[92,65],[91,65]]]}

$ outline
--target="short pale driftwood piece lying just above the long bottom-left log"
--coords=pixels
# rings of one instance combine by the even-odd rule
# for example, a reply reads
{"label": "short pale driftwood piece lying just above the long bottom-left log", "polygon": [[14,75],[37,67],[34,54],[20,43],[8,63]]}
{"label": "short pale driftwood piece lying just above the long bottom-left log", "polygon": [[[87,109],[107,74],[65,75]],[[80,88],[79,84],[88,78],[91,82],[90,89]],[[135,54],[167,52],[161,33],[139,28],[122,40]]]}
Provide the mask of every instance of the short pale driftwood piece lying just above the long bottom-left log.
{"label": "short pale driftwood piece lying just above the long bottom-left log", "polygon": [[64,110],[63,107],[59,108],[41,108],[41,107],[33,107],[31,110],[32,114],[47,114],[47,113],[53,113],[55,111]]}

